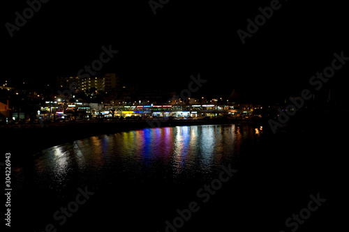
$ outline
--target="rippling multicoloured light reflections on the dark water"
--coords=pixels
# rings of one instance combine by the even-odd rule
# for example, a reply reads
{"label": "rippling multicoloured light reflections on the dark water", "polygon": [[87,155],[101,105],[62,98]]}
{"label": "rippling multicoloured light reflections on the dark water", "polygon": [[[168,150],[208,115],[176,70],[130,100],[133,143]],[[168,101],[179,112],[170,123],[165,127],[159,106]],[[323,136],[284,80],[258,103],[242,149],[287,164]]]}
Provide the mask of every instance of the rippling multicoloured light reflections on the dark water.
{"label": "rippling multicoloured light reflections on the dark water", "polygon": [[[81,183],[99,186],[119,180],[205,181],[222,164],[236,164],[241,146],[260,137],[260,130],[255,130],[241,125],[195,125],[90,137],[43,150],[32,167],[17,169],[16,183],[19,189],[34,183],[39,189],[49,185],[61,190]],[[31,170],[30,175],[26,169]]]}

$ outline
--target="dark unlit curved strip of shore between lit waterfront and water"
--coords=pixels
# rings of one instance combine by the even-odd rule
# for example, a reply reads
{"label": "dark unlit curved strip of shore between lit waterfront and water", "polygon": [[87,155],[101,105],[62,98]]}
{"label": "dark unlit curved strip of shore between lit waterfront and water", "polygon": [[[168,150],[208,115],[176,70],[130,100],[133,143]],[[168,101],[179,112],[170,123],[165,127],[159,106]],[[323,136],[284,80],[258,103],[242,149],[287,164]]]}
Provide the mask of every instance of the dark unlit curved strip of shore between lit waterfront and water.
{"label": "dark unlit curved strip of shore between lit waterfront and water", "polygon": [[175,127],[186,125],[223,125],[251,123],[241,120],[157,120],[147,121],[103,121],[49,124],[47,127],[7,127],[1,128],[1,144],[6,153],[13,153],[13,162],[24,162],[36,157],[41,150],[86,139],[102,134],[142,130],[151,127]]}

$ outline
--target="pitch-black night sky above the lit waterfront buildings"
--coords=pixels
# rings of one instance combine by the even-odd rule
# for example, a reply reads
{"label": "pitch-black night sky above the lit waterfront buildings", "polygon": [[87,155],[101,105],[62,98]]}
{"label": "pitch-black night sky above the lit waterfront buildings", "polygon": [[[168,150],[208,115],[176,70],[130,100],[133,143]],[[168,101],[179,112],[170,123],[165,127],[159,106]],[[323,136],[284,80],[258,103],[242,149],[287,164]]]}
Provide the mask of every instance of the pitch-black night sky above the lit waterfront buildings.
{"label": "pitch-black night sky above the lit waterfront buildings", "polygon": [[[174,1],[152,12],[149,1],[48,1],[10,38],[26,1],[4,2],[3,72],[0,82],[46,86],[57,76],[77,75],[98,59],[101,47],[119,53],[101,75],[116,72],[131,84],[177,90],[200,73],[200,93],[248,98],[285,98],[309,86],[348,49],[348,8],[342,1],[280,1],[281,8],[242,45],[237,29],[271,1]],[[7,5],[7,6],[6,6]],[[348,67],[329,85],[343,91]],[[43,88],[43,87],[40,87]]]}

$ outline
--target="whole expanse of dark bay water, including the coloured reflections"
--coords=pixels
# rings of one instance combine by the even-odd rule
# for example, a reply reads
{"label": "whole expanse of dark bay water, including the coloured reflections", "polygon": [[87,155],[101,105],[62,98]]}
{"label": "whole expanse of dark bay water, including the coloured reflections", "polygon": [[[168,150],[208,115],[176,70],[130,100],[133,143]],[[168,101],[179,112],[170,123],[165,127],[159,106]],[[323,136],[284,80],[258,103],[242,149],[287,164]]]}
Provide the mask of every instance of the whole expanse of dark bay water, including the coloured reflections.
{"label": "whole expanse of dark bay water, including the coloured reflections", "polygon": [[315,133],[267,137],[244,124],[73,141],[13,167],[12,224],[25,231],[291,231],[296,224],[285,220],[320,194],[327,201],[297,223],[298,231],[316,231],[343,186],[333,143]]}

